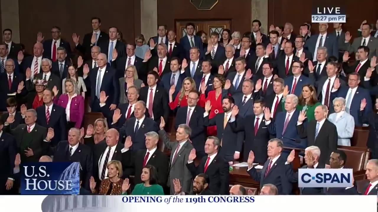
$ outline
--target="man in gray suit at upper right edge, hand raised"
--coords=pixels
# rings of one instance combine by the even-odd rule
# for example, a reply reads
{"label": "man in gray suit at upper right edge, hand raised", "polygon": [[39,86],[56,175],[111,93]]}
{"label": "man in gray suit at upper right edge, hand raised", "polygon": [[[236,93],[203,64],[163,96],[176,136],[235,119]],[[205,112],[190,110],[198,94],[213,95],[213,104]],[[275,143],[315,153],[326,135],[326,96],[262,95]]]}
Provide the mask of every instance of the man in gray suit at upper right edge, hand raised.
{"label": "man in gray suit at upper right edge, hand raised", "polygon": [[349,41],[352,38],[352,35],[350,35],[349,32],[345,33],[345,43],[348,47],[349,53],[357,52],[359,46],[367,46],[369,47],[369,60],[373,56],[378,56],[378,39],[375,37],[372,37],[370,35],[370,32],[372,31],[372,28],[369,24],[364,23],[361,27],[362,31],[361,37],[355,38],[353,40],[352,45],[350,45]]}

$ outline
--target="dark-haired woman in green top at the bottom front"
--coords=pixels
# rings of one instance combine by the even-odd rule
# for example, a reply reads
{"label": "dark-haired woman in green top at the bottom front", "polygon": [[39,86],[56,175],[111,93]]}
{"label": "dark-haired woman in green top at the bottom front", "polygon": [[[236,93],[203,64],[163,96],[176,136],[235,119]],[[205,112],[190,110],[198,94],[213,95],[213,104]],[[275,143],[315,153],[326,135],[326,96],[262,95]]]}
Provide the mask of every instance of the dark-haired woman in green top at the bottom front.
{"label": "dark-haired woman in green top at the bottom front", "polygon": [[[144,183],[136,184],[131,195],[164,195],[163,187],[158,184],[158,172],[156,168],[151,165],[146,165],[142,169],[141,180]],[[129,179],[126,178],[125,184],[129,189]]]}

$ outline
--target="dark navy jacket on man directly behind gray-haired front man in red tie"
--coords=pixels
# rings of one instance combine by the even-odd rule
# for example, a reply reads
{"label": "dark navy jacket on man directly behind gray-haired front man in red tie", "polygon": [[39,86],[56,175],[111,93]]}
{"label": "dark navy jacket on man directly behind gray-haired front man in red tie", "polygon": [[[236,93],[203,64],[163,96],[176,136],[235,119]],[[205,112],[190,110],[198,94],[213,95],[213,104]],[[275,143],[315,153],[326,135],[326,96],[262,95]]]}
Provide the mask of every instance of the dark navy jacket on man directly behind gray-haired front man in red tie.
{"label": "dark navy jacket on man directly behind gray-haired front man in red tie", "polygon": [[129,118],[126,120],[126,123],[119,129],[120,137],[122,138],[122,143],[125,143],[124,140],[127,136],[131,136],[131,139],[133,141],[133,145],[130,147],[131,150],[137,151],[139,149],[146,149],[146,143],[145,139],[147,132],[158,132],[158,126],[155,121],[153,121],[150,118],[144,117],[144,120],[142,123],[139,123],[139,129],[135,133],[135,122],[136,118]]}

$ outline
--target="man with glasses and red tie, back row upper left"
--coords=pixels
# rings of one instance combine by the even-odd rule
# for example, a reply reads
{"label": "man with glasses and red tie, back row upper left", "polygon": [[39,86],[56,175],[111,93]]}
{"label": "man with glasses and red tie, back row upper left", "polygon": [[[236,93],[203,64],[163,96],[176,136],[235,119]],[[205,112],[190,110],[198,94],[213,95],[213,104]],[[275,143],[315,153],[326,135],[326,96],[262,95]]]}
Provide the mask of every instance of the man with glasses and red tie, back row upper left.
{"label": "man with glasses and red tie, back row upper left", "polygon": [[[59,46],[64,47],[64,49],[67,52],[67,57],[71,58],[71,46],[70,43],[67,41],[63,40],[60,37],[60,27],[59,26],[53,26],[51,28],[51,36],[53,37],[50,40],[45,40],[43,42],[43,57],[49,58],[53,62],[56,61],[56,53],[57,53],[57,48]],[[38,34],[37,36],[37,41],[42,42],[44,37],[42,37],[42,33]]]}

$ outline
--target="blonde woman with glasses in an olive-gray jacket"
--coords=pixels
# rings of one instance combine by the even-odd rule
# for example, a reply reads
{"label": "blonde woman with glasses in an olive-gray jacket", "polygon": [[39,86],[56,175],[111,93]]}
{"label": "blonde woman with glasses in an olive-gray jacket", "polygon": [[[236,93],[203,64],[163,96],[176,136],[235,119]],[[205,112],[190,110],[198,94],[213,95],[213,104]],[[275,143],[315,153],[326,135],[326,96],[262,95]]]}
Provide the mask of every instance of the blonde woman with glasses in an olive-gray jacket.
{"label": "blonde woman with glasses in an olive-gray jacket", "polygon": [[144,86],[143,81],[138,78],[136,67],[133,65],[127,66],[124,77],[119,78],[119,104],[129,102],[127,100],[127,91],[130,86],[135,86],[138,89]]}

